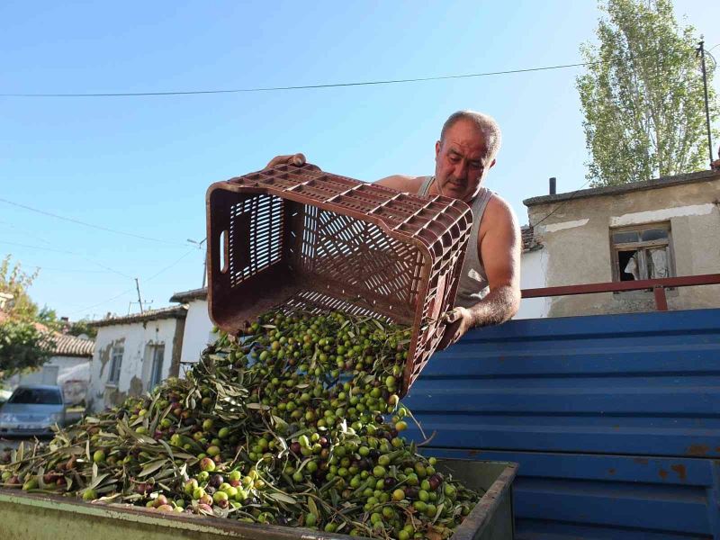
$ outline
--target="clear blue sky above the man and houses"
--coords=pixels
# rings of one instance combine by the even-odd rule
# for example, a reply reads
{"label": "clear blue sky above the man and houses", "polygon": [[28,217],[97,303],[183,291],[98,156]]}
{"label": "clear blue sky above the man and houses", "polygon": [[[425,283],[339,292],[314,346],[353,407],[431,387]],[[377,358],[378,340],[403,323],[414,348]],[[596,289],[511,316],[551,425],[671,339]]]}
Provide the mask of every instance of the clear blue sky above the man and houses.
{"label": "clear blue sky above the man and houses", "polygon": [[[346,5],[347,4],[347,5]],[[676,0],[720,43],[720,3]],[[581,61],[591,0],[0,4],[0,93],[111,93],[446,76]],[[720,48],[716,49],[720,52]],[[716,54],[720,58],[720,54]],[[42,268],[31,295],[71,320],[199,287],[208,185],[304,152],[363,180],[425,175],[450,112],[504,132],[488,186],[522,200],[585,182],[575,76],[529,74],[257,94],[0,97],[0,256]],[[720,80],[720,77],[718,79]],[[112,299],[112,300],[111,300]],[[137,311],[137,304],[131,307]]]}

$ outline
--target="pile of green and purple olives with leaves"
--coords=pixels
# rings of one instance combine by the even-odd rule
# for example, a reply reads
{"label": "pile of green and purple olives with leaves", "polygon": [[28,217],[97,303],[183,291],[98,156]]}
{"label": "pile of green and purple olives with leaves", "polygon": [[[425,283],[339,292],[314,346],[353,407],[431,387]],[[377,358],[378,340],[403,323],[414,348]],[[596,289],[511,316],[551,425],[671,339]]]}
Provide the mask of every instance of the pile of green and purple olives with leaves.
{"label": "pile of green and purple olives with leaves", "polygon": [[0,455],[5,488],[352,536],[446,538],[479,500],[402,436],[410,329],[272,311],[153,392]]}

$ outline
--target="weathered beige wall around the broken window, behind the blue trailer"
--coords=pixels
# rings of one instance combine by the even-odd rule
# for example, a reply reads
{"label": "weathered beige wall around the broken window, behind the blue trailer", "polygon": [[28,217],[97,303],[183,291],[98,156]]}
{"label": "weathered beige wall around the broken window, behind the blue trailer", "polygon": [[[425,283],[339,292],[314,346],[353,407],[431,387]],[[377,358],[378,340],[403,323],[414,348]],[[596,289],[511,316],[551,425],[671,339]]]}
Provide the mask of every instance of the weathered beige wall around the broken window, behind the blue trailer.
{"label": "weathered beige wall around the broken window, behind the blue trailer", "polygon": [[[670,222],[676,275],[720,272],[720,178],[653,190],[596,195],[528,208],[547,251],[546,286],[613,280],[609,229]],[[560,205],[560,206],[559,206]],[[555,210],[557,209],[557,210]],[[667,293],[671,310],[720,306],[720,286]],[[549,316],[653,311],[653,293],[600,293],[553,299]]]}

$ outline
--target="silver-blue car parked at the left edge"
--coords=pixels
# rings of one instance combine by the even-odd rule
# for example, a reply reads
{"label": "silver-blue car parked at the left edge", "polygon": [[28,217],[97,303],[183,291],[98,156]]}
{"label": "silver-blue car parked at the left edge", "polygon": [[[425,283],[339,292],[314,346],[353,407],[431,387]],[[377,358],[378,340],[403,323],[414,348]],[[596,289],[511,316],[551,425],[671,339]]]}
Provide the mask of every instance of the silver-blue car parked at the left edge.
{"label": "silver-blue car parked at the left edge", "polygon": [[0,408],[0,436],[41,437],[65,425],[65,401],[59,386],[18,386]]}

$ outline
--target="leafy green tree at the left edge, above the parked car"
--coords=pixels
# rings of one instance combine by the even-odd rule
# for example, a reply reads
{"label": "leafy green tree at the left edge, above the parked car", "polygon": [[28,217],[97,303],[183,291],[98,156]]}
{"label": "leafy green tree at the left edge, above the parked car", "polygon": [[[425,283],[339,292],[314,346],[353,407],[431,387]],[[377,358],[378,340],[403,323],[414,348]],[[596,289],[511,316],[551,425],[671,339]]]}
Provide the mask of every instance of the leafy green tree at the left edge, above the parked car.
{"label": "leafy green tree at the left edge, above the parked car", "polygon": [[52,332],[38,321],[49,320],[49,311],[39,311],[27,293],[35,277],[37,272],[26,274],[19,264],[11,267],[10,256],[0,262],[0,293],[12,295],[0,312],[0,381],[40,367],[52,354]]}

